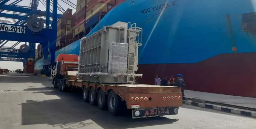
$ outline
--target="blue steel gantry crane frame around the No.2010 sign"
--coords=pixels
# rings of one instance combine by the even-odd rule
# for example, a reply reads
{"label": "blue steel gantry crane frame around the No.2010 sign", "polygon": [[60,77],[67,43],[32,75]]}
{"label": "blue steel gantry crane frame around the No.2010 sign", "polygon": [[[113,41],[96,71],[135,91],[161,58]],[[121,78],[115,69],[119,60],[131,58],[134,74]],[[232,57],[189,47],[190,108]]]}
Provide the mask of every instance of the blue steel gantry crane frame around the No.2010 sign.
{"label": "blue steel gantry crane frame around the No.2010 sign", "polygon": [[[35,57],[35,43],[40,43],[42,45],[42,52],[44,57],[44,65],[50,65],[54,62],[55,57],[55,47],[56,47],[56,32],[57,32],[57,19],[61,18],[61,14],[57,14],[58,2],[57,0],[46,0],[46,11],[37,10],[39,0],[32,0],[31,6],[19,6],[17,3],[22,0],[15,0],[10,4],[6,4],[10,0],[0,0],[0,17],[17,19],[14,24],[1,23],[5,26],[16,26],[25,27],[27,19],[30,16],[41,16],[45,17],[44,23],[45,27],[41,33],[31,33],[30,31],[25,31],[25,33],[14,33],[7,31],[0,31],[0,49],[8,41],[17,41],[11,48],[17,46],[20,42],[29,43],[29,51],[26,53],[12,53],[12,52],[0,52],[0,57],[6,58],[34,58]],[[52,13],[50,12],[50,4],[52,4]],[[62,7],[61,7],[62,8]],[[59,9],[60,10],[60,9]],[[62,10],[64,10],[62,8]],[[7,14],[3,11],[18,12],[20,14]],[[52,17],[52,21],[50,21]],[[49,50],[49,53],[48,53]],[[48,56],[49,55],[49,56]]]}

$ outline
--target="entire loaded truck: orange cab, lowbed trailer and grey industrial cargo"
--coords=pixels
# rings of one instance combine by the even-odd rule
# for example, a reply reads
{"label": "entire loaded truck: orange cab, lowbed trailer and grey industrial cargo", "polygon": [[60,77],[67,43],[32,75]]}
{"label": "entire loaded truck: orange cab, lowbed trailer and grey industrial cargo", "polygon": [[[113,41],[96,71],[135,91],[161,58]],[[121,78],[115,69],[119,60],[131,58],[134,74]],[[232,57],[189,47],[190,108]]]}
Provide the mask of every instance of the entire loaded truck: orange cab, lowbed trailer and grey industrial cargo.
{"label": "entire loaded truck: orange cab, lowbed trailer and grey industrial cargo", "polygon": [[133,119],[178,114],[181,87],[135,83],[142,77],[136,73],[142,29],[132,25],[118,22],[81,39],[80,57],[58,55],[51,73],[54,88],[81,89],[84,102],[113,115],[127,109]]}

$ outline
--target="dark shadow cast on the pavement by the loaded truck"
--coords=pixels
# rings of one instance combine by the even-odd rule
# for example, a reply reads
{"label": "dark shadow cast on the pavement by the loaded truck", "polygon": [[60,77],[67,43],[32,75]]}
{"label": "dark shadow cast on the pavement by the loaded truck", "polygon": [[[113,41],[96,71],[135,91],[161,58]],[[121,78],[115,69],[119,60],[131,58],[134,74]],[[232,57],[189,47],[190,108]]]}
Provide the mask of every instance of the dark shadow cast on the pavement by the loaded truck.
{"label": "dark shadow cast on the pavement by the loaded truck", "polygon": [[[22,125],[49,124],[61,128],[80,128],[94,124],[104,129],[124,129],[144,126],[172,124],[177,119],[155,117],[131,119],[131,115],[113,116],[96,106],[82,102],[81,92],[63,93],[53,88],[29,88],[34,94],[57,95],[61,99],[21,103]],[[175,118],[175,116],[174,116]],[[95,125],[97,124],[97,125]]]}

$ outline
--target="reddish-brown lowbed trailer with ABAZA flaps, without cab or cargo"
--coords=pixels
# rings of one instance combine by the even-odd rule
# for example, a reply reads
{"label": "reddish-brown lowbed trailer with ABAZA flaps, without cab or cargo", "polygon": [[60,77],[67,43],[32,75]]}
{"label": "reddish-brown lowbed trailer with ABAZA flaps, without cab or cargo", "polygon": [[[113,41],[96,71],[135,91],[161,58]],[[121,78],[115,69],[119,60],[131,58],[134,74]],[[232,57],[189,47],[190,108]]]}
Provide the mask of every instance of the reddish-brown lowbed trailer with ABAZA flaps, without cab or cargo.
{"label": "reddish-brown lowbed trailer with ABAZA flaps, without cab or cargo", "polygon": [[142,84],[97,84],[66,81],[66,85],[83,89],[83,101],[119,114],[123,107],[132,110],[132,118],[178,114],[182,106],[180,87]]}

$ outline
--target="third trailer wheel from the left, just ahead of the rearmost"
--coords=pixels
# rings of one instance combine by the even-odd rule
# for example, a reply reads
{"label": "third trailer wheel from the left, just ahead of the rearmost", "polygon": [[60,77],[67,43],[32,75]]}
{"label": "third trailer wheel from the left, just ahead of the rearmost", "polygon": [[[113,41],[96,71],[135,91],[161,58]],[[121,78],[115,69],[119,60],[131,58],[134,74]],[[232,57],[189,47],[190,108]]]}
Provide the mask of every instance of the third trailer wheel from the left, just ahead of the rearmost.
{"label": "third trailer wheel from the left, just ahead of the rearmost", "polygon": [[108,97],[105,95],[104,91],[102,89],[99,90],[98,92],[98,107],[101,110],[107,109],[107,102],[108,102]]}

